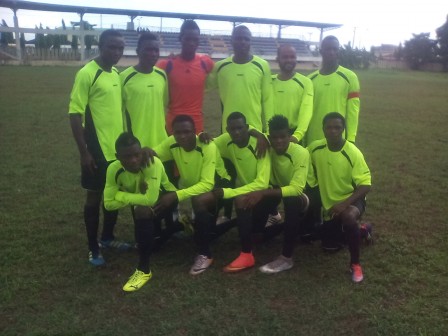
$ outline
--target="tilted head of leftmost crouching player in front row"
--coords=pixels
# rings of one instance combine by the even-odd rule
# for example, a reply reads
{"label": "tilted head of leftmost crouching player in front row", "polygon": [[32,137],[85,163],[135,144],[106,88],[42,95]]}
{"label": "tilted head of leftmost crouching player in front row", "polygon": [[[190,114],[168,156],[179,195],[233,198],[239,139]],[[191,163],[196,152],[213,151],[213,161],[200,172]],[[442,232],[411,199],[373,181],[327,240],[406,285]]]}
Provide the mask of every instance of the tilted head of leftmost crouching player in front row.
{"label": "tilted head of leftmost crouching player in front row", "polygon": [[131,173],[138,173],[142,167],[142,149],[140,141],[131,133],[121,133],[115,141],[115,156],[123,168]]}

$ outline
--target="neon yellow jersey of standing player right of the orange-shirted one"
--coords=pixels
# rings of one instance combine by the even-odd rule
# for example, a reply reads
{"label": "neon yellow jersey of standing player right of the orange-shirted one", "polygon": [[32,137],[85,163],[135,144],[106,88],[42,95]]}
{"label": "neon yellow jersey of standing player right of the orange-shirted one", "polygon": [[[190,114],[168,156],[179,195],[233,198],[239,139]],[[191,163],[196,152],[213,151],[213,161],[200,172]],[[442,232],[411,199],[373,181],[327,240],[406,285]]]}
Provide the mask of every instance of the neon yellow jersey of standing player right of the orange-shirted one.
{"label": "neon yellow jersey of standing player right of the orange-shirted one", "polygon": [[244,64],[234,63],[232,58],[217,62],[210,76],[211,86],[218,87],[221,99],[222,131],[232,112],[241,112],[249,125],[266,130],[274,113],[269,63],[258,56]]}

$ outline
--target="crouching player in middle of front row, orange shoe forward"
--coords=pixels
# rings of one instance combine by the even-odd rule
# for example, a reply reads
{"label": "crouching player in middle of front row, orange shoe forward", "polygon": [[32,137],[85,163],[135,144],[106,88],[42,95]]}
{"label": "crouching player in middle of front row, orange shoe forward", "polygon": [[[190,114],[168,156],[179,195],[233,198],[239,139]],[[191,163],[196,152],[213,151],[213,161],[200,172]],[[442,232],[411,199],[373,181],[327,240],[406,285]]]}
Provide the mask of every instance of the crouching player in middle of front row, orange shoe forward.
{"label": "crouching player in middle of front row, orange shoe forward", "polygon": [[233,199],[238,225],[241,253],[229,265],[225,272],[233,273],[253,267],[255,259],[252,254],[253,209],[248,204],[248,193],[268,188],[271,172],[269,155],[262,158],[255,152],[257,140],[249,134],[249,125],[240,112],[233,112],[227,118],[227,132],[214,141],[222,158],[230,160],[235,166],[237,185],[235,188],[218,188],[213,190],[217,200]]}

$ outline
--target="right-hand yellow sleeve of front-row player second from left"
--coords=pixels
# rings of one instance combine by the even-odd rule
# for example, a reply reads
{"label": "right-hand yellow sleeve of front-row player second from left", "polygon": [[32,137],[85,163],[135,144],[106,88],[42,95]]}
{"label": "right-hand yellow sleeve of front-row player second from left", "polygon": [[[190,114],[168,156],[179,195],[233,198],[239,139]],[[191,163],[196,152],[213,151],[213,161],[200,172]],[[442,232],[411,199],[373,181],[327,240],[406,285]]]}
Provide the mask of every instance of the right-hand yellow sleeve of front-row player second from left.
{"label": "right-hand yellow sleeve of front-row player second from left", "polygon": [[216,146],[212,142],[209,145],[202,147],[203,160],[201,167],[201,175],[198,183],[191,187],[180,189],[176,191],[179,202],[197,196],[213,189],[215,183],[215,168],[216,168]]}

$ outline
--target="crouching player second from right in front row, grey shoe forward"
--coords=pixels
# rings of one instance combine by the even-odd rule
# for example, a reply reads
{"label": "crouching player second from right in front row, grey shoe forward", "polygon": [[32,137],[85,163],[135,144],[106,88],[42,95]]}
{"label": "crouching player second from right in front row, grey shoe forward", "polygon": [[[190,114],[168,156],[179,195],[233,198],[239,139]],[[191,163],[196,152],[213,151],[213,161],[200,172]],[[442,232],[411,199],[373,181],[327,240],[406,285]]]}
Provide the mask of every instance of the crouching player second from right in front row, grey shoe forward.
{"label": "crouching player second from right in front row, grey shoe forward", "polygon": [[285,209],[284,240],[282,254],[272,262],[260,267],[263,273],[278,273],[293,267],[292,254],[295,238],[299,232],[301,215],[307,210],[309,200],[303,193],[310,155],[299,144],[290,142],[288,119],[275,115],[269,120],[271,142],[271,186],[246,195],[246,206],[256,207],[254,223],[264,223],[268,211],[283,202]]}

